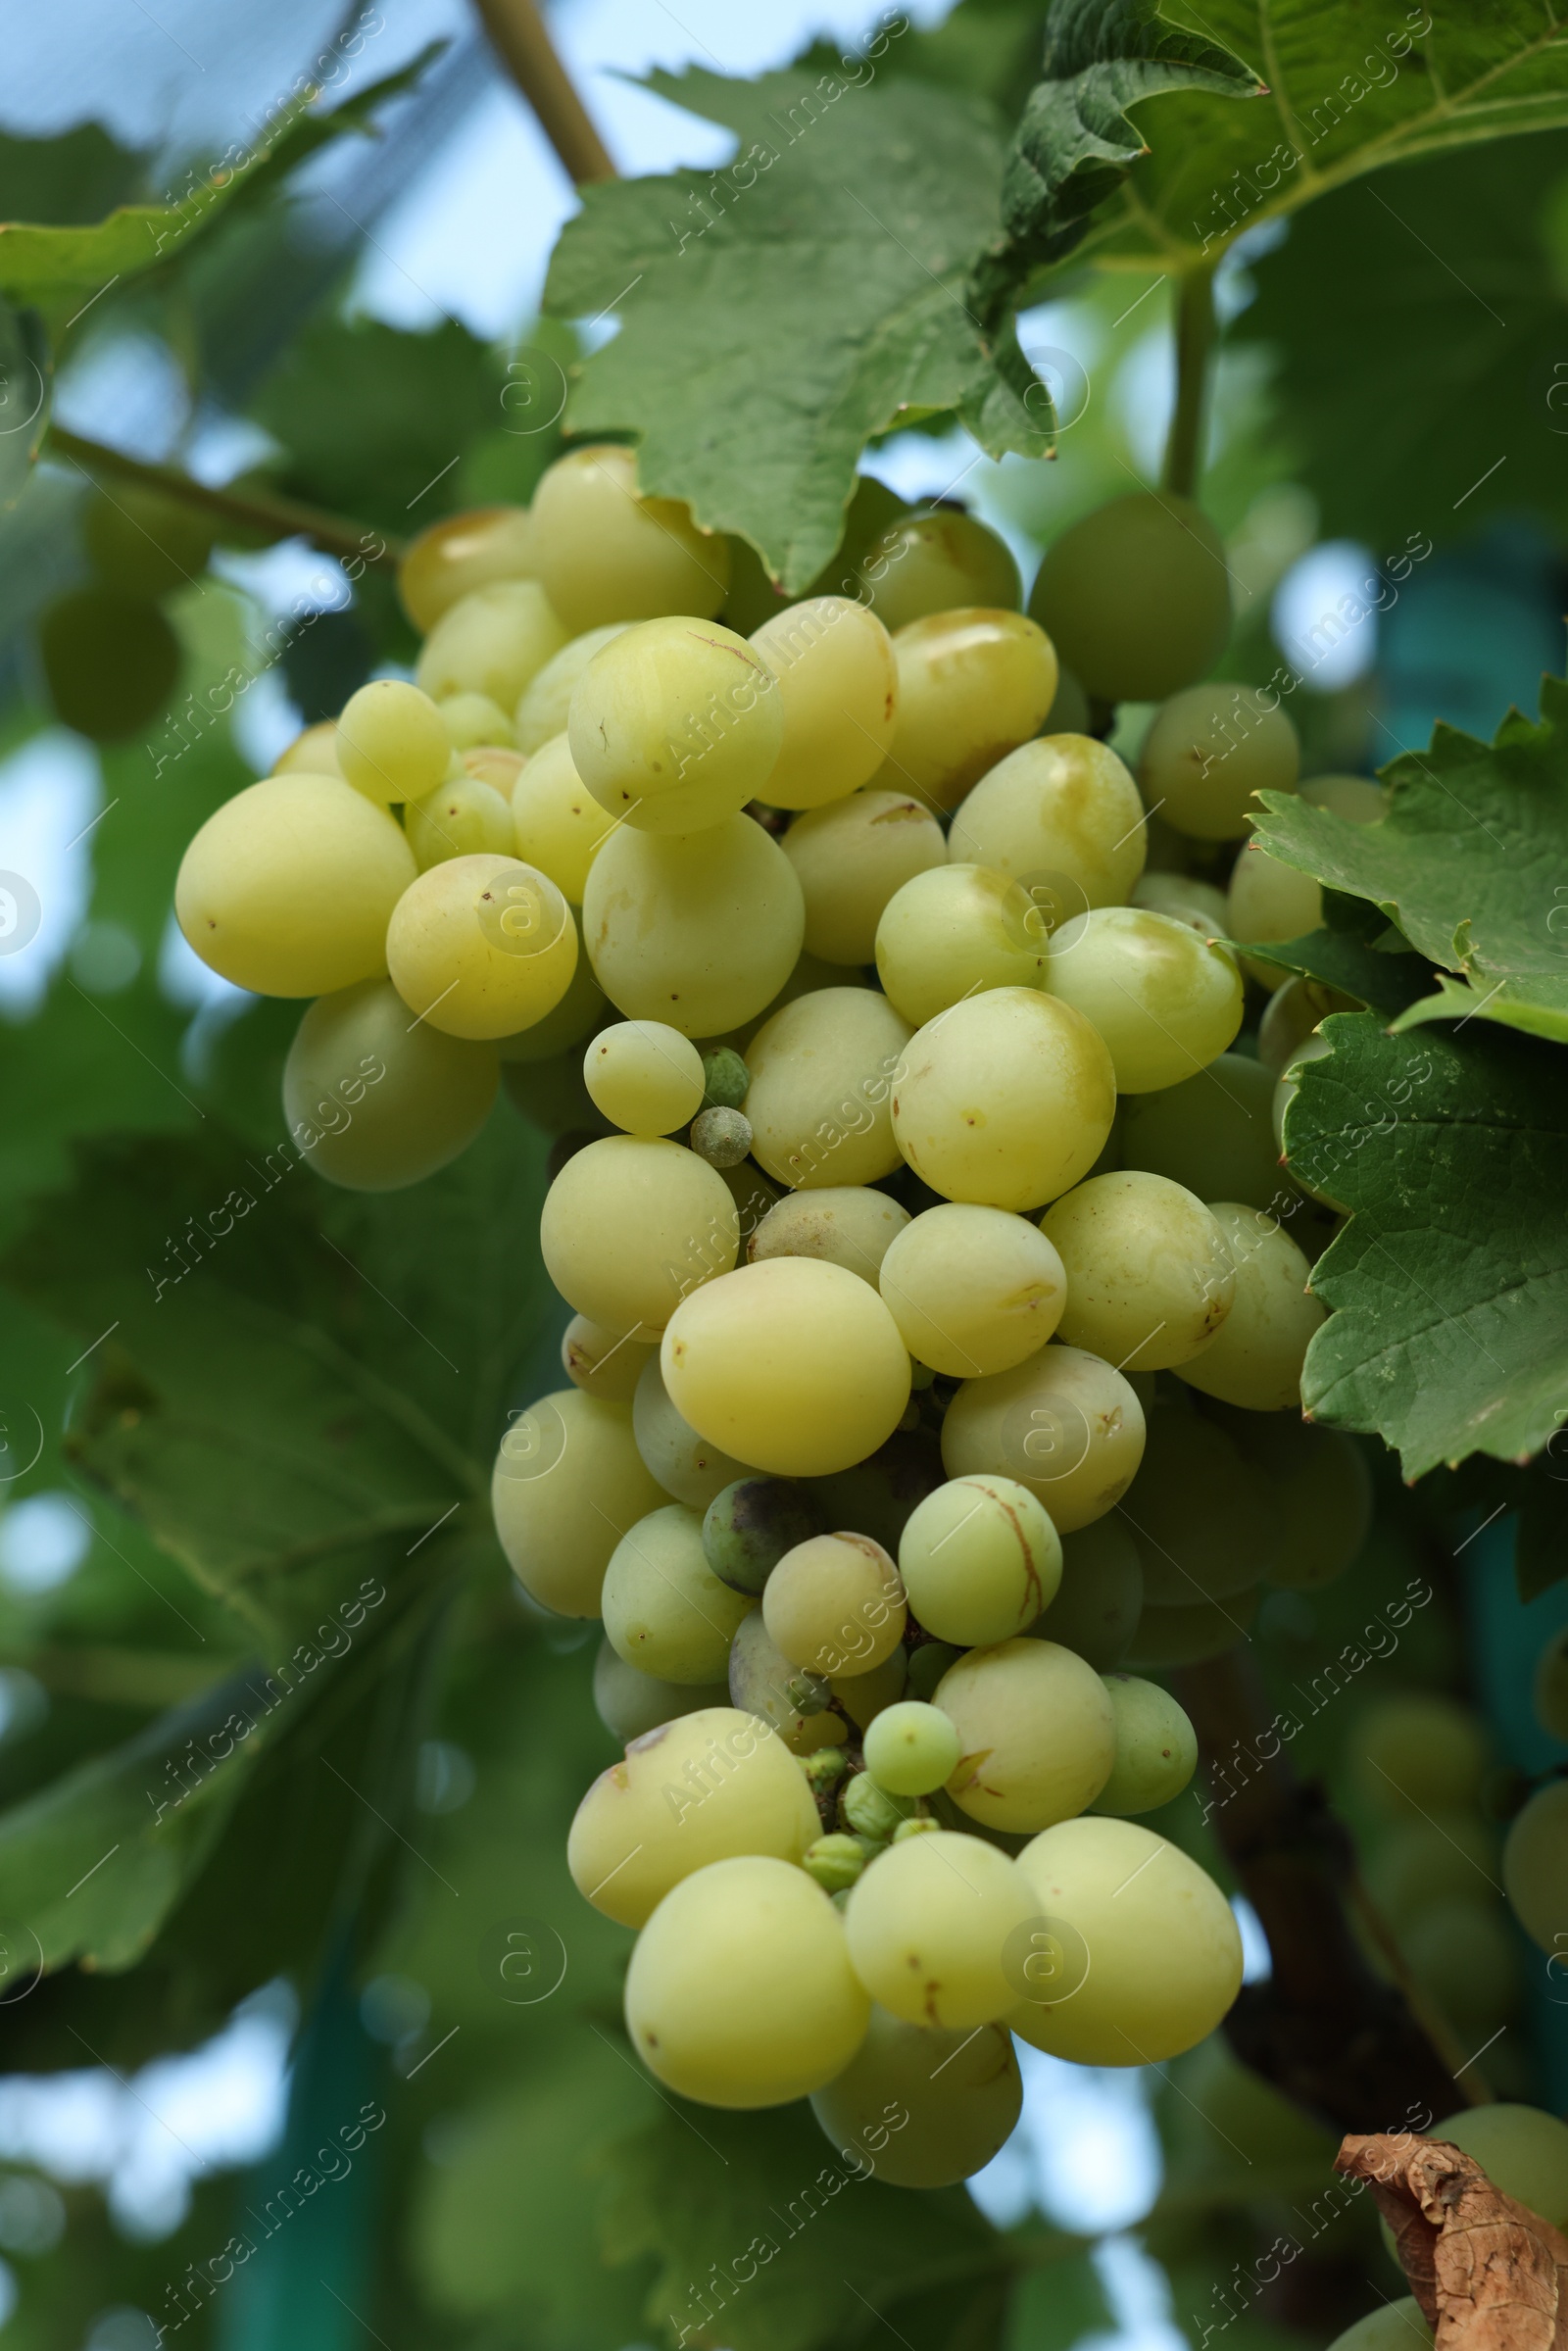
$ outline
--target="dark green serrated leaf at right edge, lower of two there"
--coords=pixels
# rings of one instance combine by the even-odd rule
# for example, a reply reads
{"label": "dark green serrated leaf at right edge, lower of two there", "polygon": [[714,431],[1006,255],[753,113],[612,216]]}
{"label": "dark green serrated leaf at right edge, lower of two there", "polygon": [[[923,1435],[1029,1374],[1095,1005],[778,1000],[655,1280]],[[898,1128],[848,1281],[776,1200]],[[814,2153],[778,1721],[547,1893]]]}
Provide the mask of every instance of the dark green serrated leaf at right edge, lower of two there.
{"label": "dark green serrated leaf at right edge, lower of two there", "polygon": [[1286,1157],[1349,1211],[1312,1288],[1302,1401],[1378,1432],[1408,1479],[1469,1453],[1523,1460],[1568,1406],[1568,1093],[1549,1046],[1505,1030],[1389,1037],[1324,1023]]}

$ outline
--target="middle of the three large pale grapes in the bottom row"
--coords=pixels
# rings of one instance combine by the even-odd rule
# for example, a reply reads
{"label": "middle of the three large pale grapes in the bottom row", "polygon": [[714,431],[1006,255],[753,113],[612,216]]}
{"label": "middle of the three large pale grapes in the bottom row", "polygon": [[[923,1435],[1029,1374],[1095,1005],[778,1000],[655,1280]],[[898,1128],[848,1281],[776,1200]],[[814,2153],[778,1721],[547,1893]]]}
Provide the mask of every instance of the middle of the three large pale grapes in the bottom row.
{"label": "middle of the three large pale grapes in the bottom row", "polygon": [[851,1888],[844,1933],[856,1975],[905,2024],[973,2031],[1016,2001],[1004,1947],[1034,1897],[1018,1864],[938,1829],[879,1853]]}

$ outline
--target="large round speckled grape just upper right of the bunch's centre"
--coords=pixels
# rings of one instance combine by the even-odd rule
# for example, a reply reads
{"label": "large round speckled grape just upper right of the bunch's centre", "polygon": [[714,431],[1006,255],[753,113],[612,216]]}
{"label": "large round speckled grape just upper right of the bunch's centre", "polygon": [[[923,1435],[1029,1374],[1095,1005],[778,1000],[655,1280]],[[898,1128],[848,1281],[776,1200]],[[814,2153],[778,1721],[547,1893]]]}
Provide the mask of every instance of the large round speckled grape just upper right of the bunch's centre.
{"label": "large round speckled grape just upper right of the bunch's centre", "polygon": [[1117,1114],[1098,1032],[1037,987],[990,987],[929,1020],[893,1079],[898,1150],[933,1192],[1039,1208],[1088,1173]]}

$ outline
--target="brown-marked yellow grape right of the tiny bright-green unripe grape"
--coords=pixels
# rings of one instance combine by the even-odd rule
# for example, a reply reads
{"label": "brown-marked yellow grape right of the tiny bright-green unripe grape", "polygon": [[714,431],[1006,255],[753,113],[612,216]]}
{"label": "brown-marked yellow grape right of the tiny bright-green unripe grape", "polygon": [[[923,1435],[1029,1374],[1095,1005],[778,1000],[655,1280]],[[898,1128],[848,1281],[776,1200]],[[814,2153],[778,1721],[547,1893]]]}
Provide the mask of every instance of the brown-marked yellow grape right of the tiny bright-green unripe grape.
{"label": "brown-marked yellow grape right of the tiny bright-green unripe grape", "polygon": [[947,1794],[987,1829],[1048,1829],[1091,1803],[1117,1759],[1105,1683],[1056,1641],[971,1648],[936,1686],[961,1761]]}

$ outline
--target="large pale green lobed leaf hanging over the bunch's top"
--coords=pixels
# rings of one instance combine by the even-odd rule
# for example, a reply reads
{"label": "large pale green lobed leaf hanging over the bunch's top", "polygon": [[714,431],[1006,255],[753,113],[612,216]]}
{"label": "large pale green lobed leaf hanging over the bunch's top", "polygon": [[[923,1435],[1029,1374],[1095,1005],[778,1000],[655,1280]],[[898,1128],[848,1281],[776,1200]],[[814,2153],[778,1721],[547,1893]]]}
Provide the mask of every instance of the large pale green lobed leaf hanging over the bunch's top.
{"label": "large pale green lobed leaf hanging over the bunch's top", "polygon": [[644,489],[741,531],[788,588],[837,548],[872,435],[959,414],[992,456],[1048,447],[1044,386],[964,301],[1004,155],[980,99],[799,68],[654,87],[741,153],[583,190],[545,310],[621,331],[574,371],[574,433],[637,435]]}

